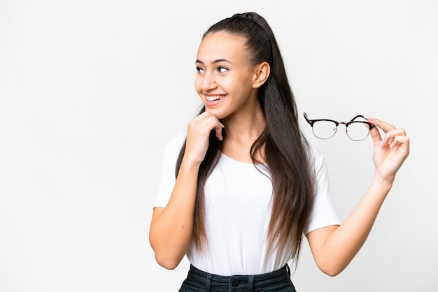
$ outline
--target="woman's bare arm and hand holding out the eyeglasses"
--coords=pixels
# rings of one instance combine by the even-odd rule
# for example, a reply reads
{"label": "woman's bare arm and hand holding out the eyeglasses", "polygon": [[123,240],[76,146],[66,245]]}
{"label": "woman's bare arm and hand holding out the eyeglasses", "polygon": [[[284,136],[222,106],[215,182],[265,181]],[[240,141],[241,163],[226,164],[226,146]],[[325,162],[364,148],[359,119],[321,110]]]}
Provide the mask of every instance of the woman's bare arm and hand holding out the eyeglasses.
{"label": "woman's bare arm and hand holding out the eyeglasses", "polygon": [[409,138],[404,129],[395,129],[378,119],[369,119],[369,122],[386,133],[382,139],[378,129],[374,127],[371,131],[376,166],[372,183],[343,224],[320,228],[306,235],[318,268],[330,276],[344,270],[364,244],[397,170],[409,155]]}

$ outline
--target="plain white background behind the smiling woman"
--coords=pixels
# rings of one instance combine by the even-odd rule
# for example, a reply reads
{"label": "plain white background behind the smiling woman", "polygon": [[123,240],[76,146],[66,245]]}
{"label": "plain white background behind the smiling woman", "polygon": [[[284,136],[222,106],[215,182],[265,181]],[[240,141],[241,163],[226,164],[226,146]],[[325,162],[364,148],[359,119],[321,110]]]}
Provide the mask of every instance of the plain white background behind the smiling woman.
{"label": "plain white background behind the smiling woman", "polygon": [[403,126],[411,155],[365,246],[337,277],[307,242],[300,292],[436,291],[437,1],[0,0],[0,291],[177,291],[188,270],[148,242],[162,148],[199,99],[202,33],[264,16],[300,122],[344,219],[370,182],[371,139],[314,138],[302,118]]}

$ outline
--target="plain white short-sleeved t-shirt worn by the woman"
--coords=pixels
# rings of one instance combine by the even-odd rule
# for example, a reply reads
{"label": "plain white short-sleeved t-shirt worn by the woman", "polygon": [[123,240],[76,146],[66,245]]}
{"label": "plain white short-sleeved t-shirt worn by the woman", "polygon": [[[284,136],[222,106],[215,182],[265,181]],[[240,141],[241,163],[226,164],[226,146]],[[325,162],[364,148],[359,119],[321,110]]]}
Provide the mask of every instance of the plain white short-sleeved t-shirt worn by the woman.
{"label": "plain white short-sleeved t-shirt worn by the woman", "polygon": [[[165,207],[175,184],[176,159],[185,133],[174,136],[164,149],[162,175],[154,207]],[[338,225],[330,196],[323,155],[311,147],[318,193],[305,233]],[[200,254],[192,242],[187,257],[200,270],[216,275],[255,275],[282,268],[292,258],[291,242],[267,258],[267,228],[271,217],[272,184],[252,163],[220,155],[205,186],[207,249]]]}

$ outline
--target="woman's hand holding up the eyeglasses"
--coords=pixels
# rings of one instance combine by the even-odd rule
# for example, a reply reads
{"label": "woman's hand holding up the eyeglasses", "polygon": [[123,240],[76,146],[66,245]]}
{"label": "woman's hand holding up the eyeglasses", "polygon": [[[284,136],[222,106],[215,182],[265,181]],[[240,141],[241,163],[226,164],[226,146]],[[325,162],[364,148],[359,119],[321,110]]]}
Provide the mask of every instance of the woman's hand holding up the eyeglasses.
{"label": "woman's hand holding up the eyeglasses", "polygon": [[[409,155],[409,137],[403,128],[395,128],[392,124],[379,119],[367,118],[367,120],[374,124],[371,136],[374,142],[373,161],[376,174],[379,174],[383,180],[393,182],[397,170]],[[383,138],[377,127],[385,133]]]}

